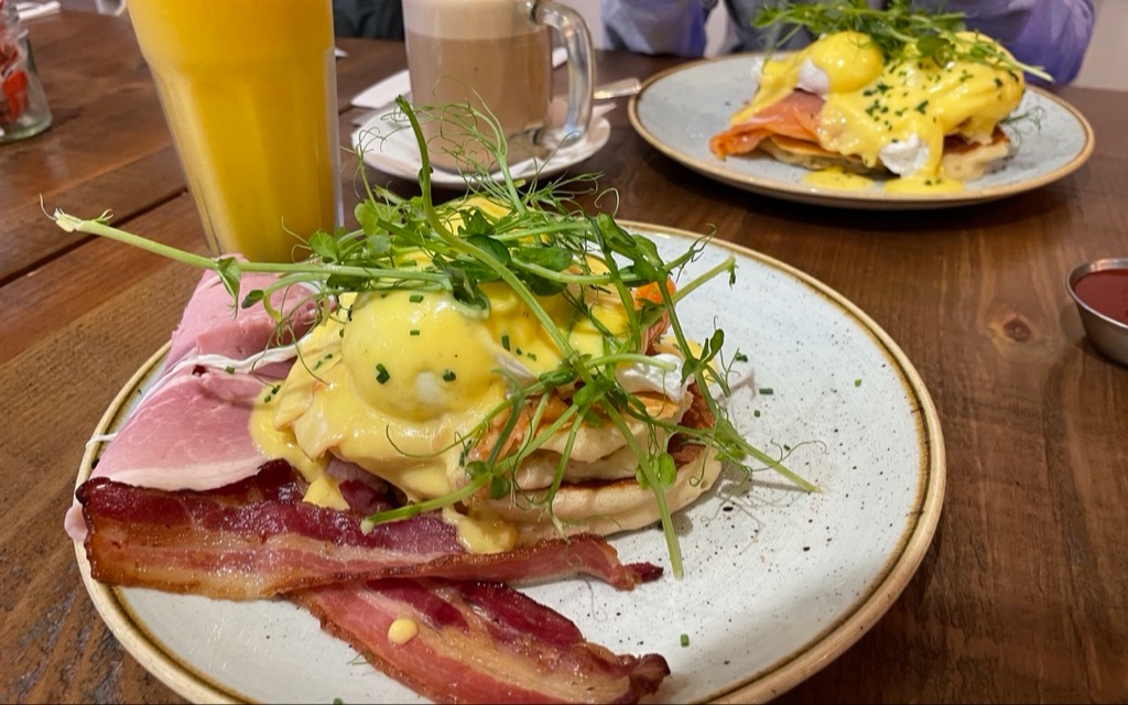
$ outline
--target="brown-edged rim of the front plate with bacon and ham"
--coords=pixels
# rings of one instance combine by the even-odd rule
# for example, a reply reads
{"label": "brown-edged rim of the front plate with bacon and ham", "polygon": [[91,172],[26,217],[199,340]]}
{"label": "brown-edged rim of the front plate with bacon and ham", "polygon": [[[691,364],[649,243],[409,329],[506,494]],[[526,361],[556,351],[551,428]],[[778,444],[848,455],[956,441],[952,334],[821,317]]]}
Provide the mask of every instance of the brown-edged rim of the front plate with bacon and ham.
{"label": "brown-edged rim of the front plate with bacon and ham", "polygon": [[[617,222],[631,231],[684,239],[705,237],[682,228],[632,220]],[[900,597],[923,562],[938,526],[946,487],[946,451],[940,416],[924,380],[901,347],[873,318],[845,296],[797,267],[730,240],[713,238],[710,244],[739,253],[799,280],[853,317],[864,333],[874,338],[883,353],[897,364],[899,377],[911,402],[913,414],[917,417],[917,429],[920,434],[920,465],[916,468],[916,499],[911,503],[914,515],[901,526],[901,536],[896,548],[887,556],[882,570],[873,575],[867,590],[791,654],[782,654],[767,669],[751,672],[746,679],[714,691],[705,698],[706,702],[719,703],[766,702],[807,680],[841,655],[861,640]],[[169,347],[170,342],[161,345],[121,387],[98,421],[92,438],[102,437],[131,413],[138,387],[159,370]],[[105,443],[106,441],[98,441],[86,444],[76,477],[76,490],[89,477],[94,460]],[[74,544],[73,548],[82,582],[96,610],[114,637],[147,671],[194,703],[256,702],[236,688],[215,682],[206,673],[199,672],[176,654],[169,653],[161,640],[151,634],[141,620],[134,618],[127,605],[129,600],[123,594],[123,590],[126,589],[105,585],[94,580],[83,546]]]}

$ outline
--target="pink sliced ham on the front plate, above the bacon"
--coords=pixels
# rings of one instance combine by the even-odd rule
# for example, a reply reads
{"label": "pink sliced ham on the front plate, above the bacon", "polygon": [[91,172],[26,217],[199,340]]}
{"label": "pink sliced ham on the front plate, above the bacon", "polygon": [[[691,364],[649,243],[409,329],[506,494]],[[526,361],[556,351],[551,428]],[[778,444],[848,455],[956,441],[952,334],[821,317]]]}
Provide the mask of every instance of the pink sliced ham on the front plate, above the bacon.
{"label": "pink sliced ham on the front plate, above the bacon", "polygon": [[[266,289],[275,281],[271,274],[245,274],[240,291]],[[162,376],[109,441],[90,477],[158,490],[213,490],[254,475],[271,458],[250,435],[250,411],[292,362],[247,365],[253,374],[228,367],[303,334],[314,319],[307,293],[292,289],[272,294],[272,306],[290,315],[289,333],[280,337],[265,307],[236,307],[219,275],[205,272],[173,333]],[[77,501],[63,527],[76,541],[85,538]]]}

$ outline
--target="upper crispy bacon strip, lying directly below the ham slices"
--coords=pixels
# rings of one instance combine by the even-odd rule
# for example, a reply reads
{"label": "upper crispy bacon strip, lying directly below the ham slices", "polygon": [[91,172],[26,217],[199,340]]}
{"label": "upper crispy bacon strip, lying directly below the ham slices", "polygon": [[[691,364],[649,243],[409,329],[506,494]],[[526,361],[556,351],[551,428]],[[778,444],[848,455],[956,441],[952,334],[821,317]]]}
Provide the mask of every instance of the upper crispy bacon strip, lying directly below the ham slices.
{"label": "upper crispy bacon strip, lying directly below the ham slices", "polygon": [[284,461],[209,492],[88,481],[78,499],[89,527],[91,572],[108,584],[233,600],[393,575],[536,582],[584,574],[629,590],[662,572],[649,563],[619,563],[615,548],[592,535],[470,554],[435,513],[364,534],[361,519],[378,497],[356,481],[345,485],[354,506],[367,504],[363,511],[302,502],[305,483]]}

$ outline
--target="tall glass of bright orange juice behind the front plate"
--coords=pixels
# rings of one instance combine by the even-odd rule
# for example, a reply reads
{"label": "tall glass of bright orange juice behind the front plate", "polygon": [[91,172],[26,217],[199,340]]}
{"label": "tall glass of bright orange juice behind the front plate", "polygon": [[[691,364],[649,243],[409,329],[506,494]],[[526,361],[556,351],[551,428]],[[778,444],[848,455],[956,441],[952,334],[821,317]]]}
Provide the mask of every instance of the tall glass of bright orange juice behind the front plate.
{"label": "tall glass of bright orange juice behind the front plate", "polygon": [[212,253],[305,256],[343,221],[331,0],[129,0]]}

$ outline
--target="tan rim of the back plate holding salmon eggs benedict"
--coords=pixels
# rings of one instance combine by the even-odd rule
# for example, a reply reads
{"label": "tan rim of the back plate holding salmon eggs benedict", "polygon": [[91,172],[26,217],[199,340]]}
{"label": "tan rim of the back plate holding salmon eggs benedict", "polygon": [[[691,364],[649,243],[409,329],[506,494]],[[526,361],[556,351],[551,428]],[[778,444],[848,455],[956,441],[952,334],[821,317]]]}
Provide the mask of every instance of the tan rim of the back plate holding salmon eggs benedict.
{"label": "tan rim of the back plate holding salmon eggs benedict", "polygon": [[1005,184],[998,186],[992,186],[988,188],[978,190],[976,192],[969,193],[967,190],[954,192],[954,193],[940,193],[931,195],[911,194],[911,193],[885,193],[885,192],[874,192],[874,193],[860,193],[852,191],[841,191],[834,188],[823,188],[818,186],[796,186],[788,183],[778,182],[776,179],[767,179],[756,175],[749,174],[735,174],[731,169],[723,168],[723,162],[717,161],[713,164],[707,160],[698,159],[693,155],[687,155],[686,152],[675,149],[670,144],[662,142],[658,136],[647,127],[642,117],[638,115],[638,104],[645,98],[646,91],[658,85],[660,81],[669,79],[671,76],[681,73],[684,71],[689,71],[691,69],[699,68],[704,64],[720,64],[726,62],[738,62],[738,61],[750,61],[757,56],[765,56],[767,52],[737,52],[732,54],[725,54],[723,56],[711,56],[705,59],[696,59],[693,61],[687,61],[679,63],[673,67],[669,67],[652,74],[646,80],[643,81],[642,88],[637,94],[631,96],[627,103],[627,116],[631,121],[632,127],[635,132],[651,147],[662,152],[673,161],[677,161],[684,167],[693,169],[703,176],[713,178],[714,180],[734,186],[737,188],[742,188],[752,193],[758,193],[767,196],[775,196],[777,199],[784,199],[788,201],[797,201],[801,203],[811,203],[816,205],[828,205],[838,208],[854,208],[854,209],[870,209],[870,210],[910,210],[910,209],[940,209],[940,208],[952,208],[961,205],[973,205],[978,203],[986,203],[989,201],[996,201],[1007,196],[1017,195],[1020,193],[1025,193],[1028,191],[1033,191],[1051,184],[1056,180],[1065,178],[1069,174],[1073,174],[1079,169],[1093,153],[1093,148],[1095,143],[1095,134],[1093,132],[1093,126],[1090,124],[1089,120],[1074,107],[1070,103],[1064,98],[1049,92],[1048,90],[1039,87],[1026,85],[1026,90],[1032,91],[1038,97],[1049,100],[1056,107],[1065,111],[1069,116],[1077,121],[1081,125],[1082,132],[1084,133],[1084,142],[1081,150],[1073,156],[1073,158],[1066,164],[1061,165],[1057,169],[1047,171],[1046,174],[1038,175],[1033,178],[1015,182],[1013,184]]}

